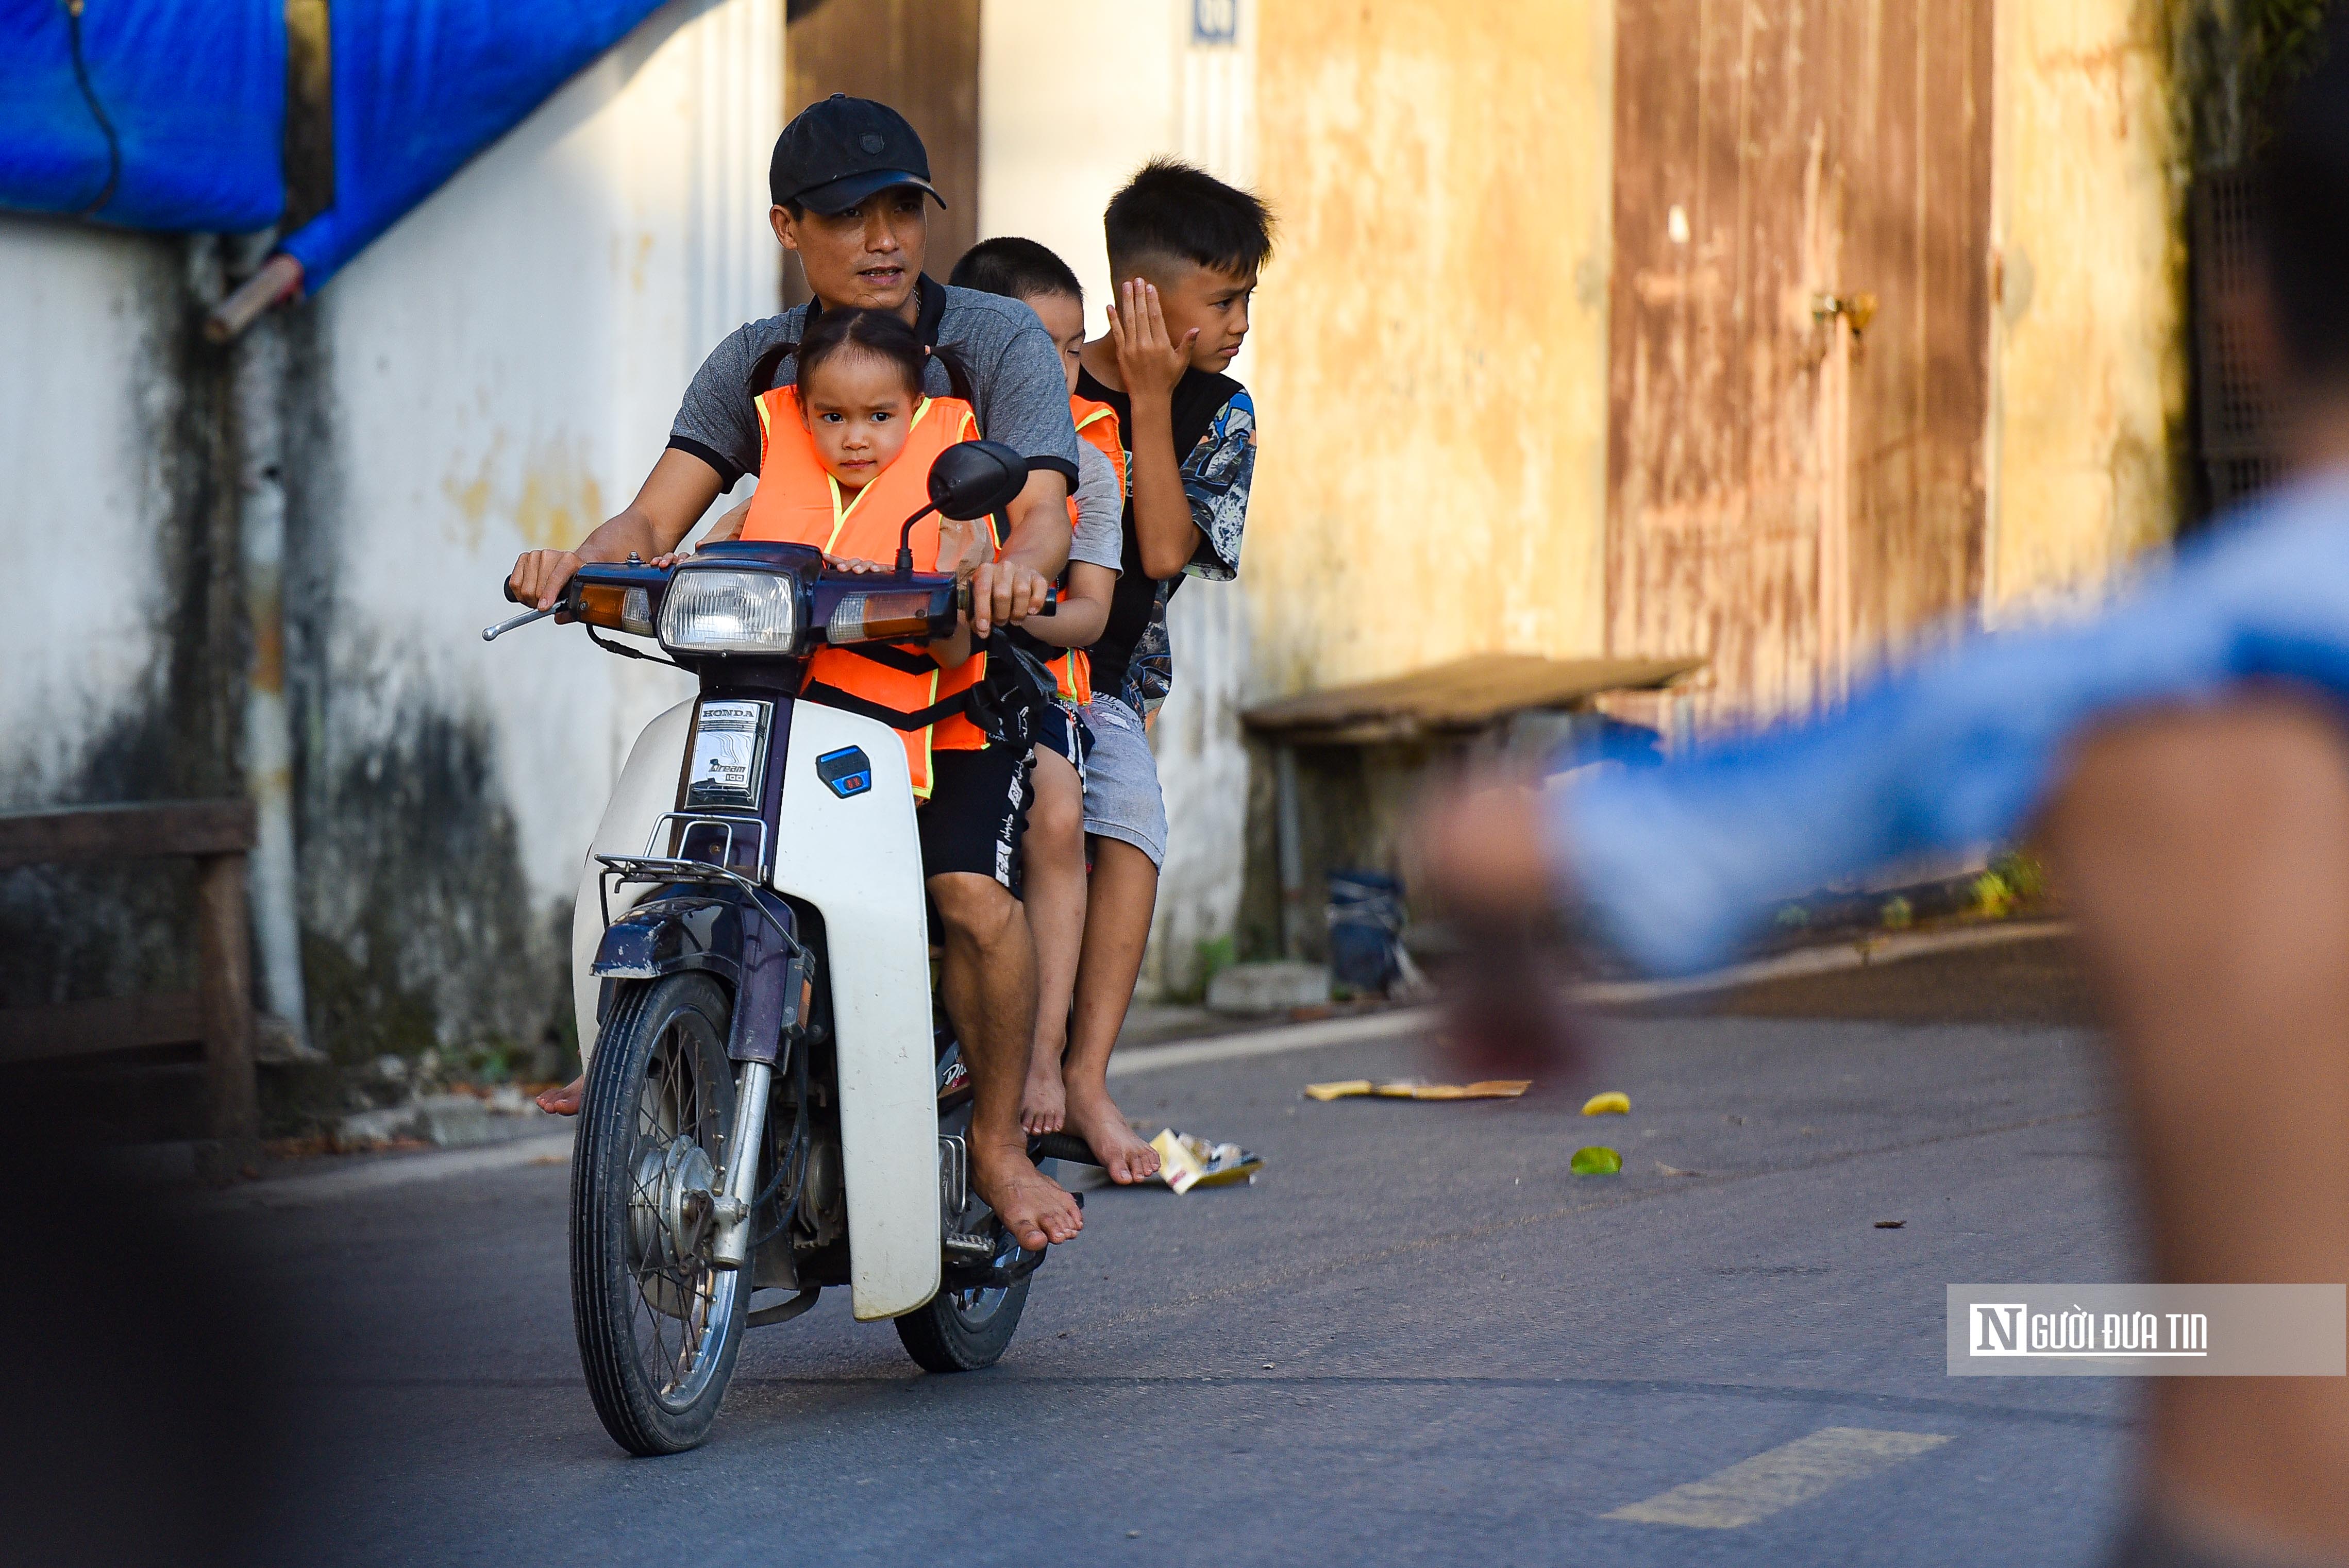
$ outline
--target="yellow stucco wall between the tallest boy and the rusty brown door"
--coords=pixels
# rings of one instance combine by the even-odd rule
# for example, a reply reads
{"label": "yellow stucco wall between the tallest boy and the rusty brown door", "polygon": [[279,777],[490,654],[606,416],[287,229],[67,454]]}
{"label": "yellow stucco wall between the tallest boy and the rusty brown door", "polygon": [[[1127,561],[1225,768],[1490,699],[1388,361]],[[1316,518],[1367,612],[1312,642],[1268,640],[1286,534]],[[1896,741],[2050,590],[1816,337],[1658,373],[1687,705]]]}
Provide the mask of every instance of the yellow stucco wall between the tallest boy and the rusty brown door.
{"label": "yellow stucco wall between the tallest boy and the rusty brown door", "polygon": [[1254,697],[1602,646],[1609,0],[1273,0]]}

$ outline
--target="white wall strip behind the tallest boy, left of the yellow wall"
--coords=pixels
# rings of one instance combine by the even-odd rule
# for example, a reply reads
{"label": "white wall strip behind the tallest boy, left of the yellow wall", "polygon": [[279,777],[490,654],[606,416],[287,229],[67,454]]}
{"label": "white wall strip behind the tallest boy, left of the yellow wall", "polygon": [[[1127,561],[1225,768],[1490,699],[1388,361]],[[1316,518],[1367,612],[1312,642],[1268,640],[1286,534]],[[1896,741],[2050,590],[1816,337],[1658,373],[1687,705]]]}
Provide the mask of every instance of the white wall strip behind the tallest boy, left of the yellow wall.
{"label": "white wall strip behind the tallest boy, left of the yellow wall", "polygon": [[[1240,0],[1236,45],[1198,45],[1191,0],[987,0],[980,12],[980,235],[1052,246],[1085,284],[1092,333],[1106,331],[1102,209],[1139,164],[1179,155],[1252,178],[1252,12]],[[1247,380],[1247,361],[1231,373]],[[1186,582],[1167,615],[1174,692],[1151,746],[1170,838],[1144,991],[1191,984],[1198,944],[1229,934],[1240,906],[1245,582],[1243,549],[1238,582]]]}

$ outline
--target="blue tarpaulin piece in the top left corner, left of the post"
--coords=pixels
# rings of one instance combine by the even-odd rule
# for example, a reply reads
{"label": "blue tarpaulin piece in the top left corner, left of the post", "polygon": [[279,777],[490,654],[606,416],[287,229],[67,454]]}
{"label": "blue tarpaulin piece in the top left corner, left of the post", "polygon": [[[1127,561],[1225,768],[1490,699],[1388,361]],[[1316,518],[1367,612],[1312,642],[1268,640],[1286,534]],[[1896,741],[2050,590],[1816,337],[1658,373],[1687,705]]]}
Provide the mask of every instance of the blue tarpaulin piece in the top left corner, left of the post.
{"label": "blue tarpaulin piece in the top left corner, left of the post", "polygon": [[0,0],[0,207],[268,228],[284,211],[284,99],[282,0],[89,5],[80,19],[61,0]]}

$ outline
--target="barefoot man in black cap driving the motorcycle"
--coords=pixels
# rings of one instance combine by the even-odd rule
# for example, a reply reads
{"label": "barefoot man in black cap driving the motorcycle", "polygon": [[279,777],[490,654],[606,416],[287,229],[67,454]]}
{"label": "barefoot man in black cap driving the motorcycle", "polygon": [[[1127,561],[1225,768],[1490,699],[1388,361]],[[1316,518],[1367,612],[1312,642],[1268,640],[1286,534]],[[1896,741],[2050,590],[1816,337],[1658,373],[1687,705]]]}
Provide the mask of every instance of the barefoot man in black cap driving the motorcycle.
{"label": "barefoot man in black cap driving the motorcycle", "polygon": [[[1001,554],[970,577],[972,634],[1017,624],[1048,603],[1069,559],[1066,498],[1076,484],[1076,427],[1069,420],[1059,352],[1034,312],[1015,300],[947,289],[923,277],[930,162],[895,110],[834,94],[801,110],[775,141],[768,167],[768,225],[794,251],[815,300],[728,336],[702,364],[679,408],[669,446],[622,512],[576,549],[533,549],[514,561],[510,589],[552,608],[583,561],[653,559],[674,552],[709,505],[759,469],[756,399],[789,385],[792,347],[822,310],[890,310],[944,357],[933,359],[930,392],[963,392],[982,432],[1029,462],[1027,488],[1005,509]],[[947,359],[968,376],[954,385]],[[1024,779],[1024,775],[1015,775]],[[1012,784],[1017,791],[1019,784]],[[1010,803],[1017,819],[1019,800]],[[996,815],[1003,800],[972,798],[940,779],[923,812]],[[1015,829],[1017,831],[1017,829]],[[933,836],[926,833],[926,843]],[[975,833],[937,833],[970,843]],[[1036,1012],[1036,951],[1027,913],[1001,861],[926,864],[923,880],[944,937],[942,991],[970,1063],[975,1115],[970,1176],[1022,1246],[1066,1242],[1083,1228],[1076,1199],[1027,1157],[1019,1089]],[[576,1113],[580,1084],[543,1103]]]}

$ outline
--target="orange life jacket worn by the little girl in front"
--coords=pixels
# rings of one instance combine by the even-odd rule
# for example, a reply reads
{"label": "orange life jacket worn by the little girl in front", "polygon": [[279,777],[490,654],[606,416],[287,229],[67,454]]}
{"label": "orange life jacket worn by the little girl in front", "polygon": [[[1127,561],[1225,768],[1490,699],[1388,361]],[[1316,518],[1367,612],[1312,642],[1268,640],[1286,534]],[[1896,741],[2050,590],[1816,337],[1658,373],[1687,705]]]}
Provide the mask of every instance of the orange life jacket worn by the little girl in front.
{"label": "orange life jacket worn by the little girl in front", "polygon": [[[862,491],[846,493],[815,458],[815,439],[799,418],[799,387],[775,387],[759,397],[759,491],[749,500],[749,516],[742,519],[742,538],[815,545],[832,556],[895,561],[897,530],[930,500],[930,462],[956,441],[975,441],[977,434],[970,404],[958,397],[926,397],[914,408],[897,460],[874,474]],[[1001,549],[994,528],[984,521],[977,528],[984,554],[994,559]],[[914,523],[909,542],[914,570],[937,570],[935,512]],[[808,662],[801,695],[893,725],[904,737],[914,793],[928,800],[933,751],[987,746],[987,735],[951,707],[984,676],[984,653],[954,669],[940,669],[921,643],[855,643],[817,650]],[[949,704],[951,711],[928,723],[907,723],[940,704]]]}

